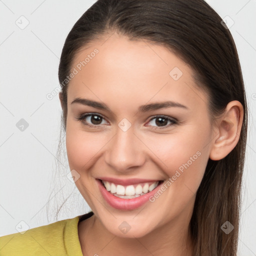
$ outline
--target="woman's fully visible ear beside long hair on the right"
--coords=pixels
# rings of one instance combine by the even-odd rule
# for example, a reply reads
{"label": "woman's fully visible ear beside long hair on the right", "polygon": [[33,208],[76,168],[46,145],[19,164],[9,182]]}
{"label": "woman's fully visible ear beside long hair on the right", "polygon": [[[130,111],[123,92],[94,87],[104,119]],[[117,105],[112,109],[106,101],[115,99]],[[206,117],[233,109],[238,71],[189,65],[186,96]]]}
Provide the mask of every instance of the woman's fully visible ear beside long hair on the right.
{"label": "woman's fully visible ear beside long hair on the right", "polygon": [[217,120],[216,137],[210,151],[211,160],[224,158],[235,147],[239,140],[243,119],[242,104],[233,100],[225,108],[225,112]]}

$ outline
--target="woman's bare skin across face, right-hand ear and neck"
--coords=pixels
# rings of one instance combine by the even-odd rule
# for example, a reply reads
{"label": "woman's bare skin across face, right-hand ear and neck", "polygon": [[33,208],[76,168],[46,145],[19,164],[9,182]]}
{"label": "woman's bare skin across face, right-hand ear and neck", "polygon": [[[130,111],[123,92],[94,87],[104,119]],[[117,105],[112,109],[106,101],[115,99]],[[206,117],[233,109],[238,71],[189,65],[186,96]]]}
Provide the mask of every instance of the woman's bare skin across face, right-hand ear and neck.
{"label": "woman's bare skin across face, right-hand ear and neck", "polygon": [[[68,162],[70,170],[79,173],[75,184],[94,212],[78,224],[82,253],[192,255],[189,221],[196,190],[208,158],[223,158],[237,143],[242,106],[229,102],[213,125],[208,95],[196,86],[186,63],[161,45],[131,41],[117,33],[86,45],[73,67],[95,48],[99,52],[70,80],[67,90]],[[169,75],[174,67],[183,73],[178,80]],[[59,97],[63,106],[61,93]],[[71,104],[76,97],[103,102],[111,111]],[[187,108],[137,111],[140,105],[165,100]],[[93,125],[91,116],[76,119],[84,113],[104,118],[88,127],[86,121]],[[156,115],[176,118],[178,123],[159,126],[158,119],[152,119]],[[131,124],[127,131],[118,127],[123,118]],[[168,180],[198,151],[200,156],[155,201],[134,210],[111,207],[95,181],[100,176]],[[131,227],[125,234],[118,228],[123,221]]]}

